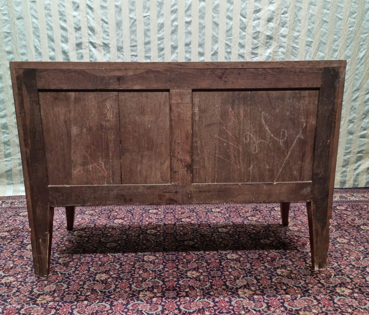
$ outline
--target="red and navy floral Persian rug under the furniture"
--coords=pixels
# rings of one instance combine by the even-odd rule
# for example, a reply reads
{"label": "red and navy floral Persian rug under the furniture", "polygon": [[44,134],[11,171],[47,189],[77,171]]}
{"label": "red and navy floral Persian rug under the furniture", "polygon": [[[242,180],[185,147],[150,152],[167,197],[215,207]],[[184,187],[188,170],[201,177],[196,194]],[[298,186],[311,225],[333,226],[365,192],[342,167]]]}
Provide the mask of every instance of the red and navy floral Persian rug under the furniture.
{"label": "red and navy floral Persian rug under the furniture", "polygon": [[335,190],[326,271],[304,203],[55,209],[35,278],[25,198],[0,200],[1,314],[369,314],[369,189]]}

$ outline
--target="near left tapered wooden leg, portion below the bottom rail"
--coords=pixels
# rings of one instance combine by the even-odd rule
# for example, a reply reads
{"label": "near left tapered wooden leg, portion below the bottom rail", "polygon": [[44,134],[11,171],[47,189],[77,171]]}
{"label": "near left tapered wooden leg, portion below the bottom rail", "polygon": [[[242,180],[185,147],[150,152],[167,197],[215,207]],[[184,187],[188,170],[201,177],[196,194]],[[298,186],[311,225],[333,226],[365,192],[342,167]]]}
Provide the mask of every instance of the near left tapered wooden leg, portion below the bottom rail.
{"label": "near left tapered wooden leg, portion below the bottom rail", "polygon": [[53,219],[53,207],[38,205],[37,209],[28,210],[33,265],[36,277],[45,277],[50,272]]}

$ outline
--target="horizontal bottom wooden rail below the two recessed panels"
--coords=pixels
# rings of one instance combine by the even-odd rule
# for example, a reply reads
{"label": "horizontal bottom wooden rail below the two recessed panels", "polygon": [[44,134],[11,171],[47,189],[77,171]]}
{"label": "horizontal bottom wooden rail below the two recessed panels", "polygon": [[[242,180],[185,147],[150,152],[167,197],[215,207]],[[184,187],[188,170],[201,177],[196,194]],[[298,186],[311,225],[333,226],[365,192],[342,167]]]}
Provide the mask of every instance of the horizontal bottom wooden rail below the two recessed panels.
{"label": "horizontal bottom wooden rail below the two recessed panels", "polygon": [[311,182],[49,186],[52,206],[307,202]]}

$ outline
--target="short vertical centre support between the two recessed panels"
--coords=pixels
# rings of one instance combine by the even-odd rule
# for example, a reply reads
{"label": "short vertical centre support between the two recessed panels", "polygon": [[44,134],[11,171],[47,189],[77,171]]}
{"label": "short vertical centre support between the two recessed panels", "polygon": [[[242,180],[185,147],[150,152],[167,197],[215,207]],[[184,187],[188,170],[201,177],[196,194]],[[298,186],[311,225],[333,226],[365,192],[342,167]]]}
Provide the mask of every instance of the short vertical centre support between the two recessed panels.
{"label": "short vertical centre support between the two recessed panels", "polygon": [[192,183],[192,90],[170,90],[170,182]]}

